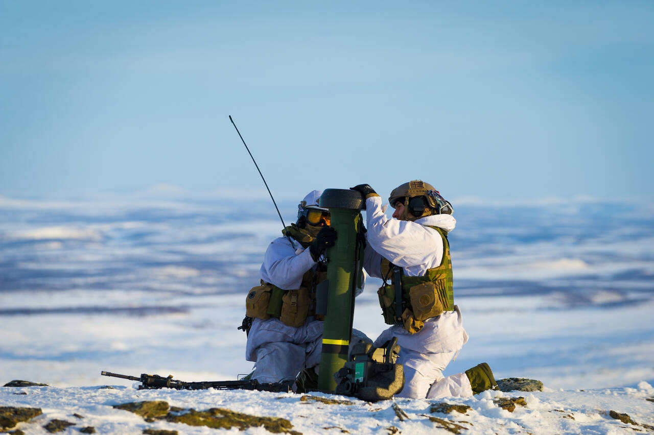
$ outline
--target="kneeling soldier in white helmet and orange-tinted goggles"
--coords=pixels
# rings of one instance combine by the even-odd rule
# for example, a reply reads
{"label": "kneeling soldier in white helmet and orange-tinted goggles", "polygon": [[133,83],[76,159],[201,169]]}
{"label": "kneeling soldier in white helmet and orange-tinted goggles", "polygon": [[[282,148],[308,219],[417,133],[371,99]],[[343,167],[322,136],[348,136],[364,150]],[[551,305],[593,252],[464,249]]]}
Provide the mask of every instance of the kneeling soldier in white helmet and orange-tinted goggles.
{"label": "kneeling soldier in white helmet and orange-tinted goggles", "polygon": [[321,194],[306,195],[296,223],[269,244],[259,270],[261,285],[246,298],[246,321],[252,323],[246,327],[245,356],[256,363],[251,378],[261,383],[295,379],[298,372],[304,387],[317,381],[313,367],[320,362],[323,323],[315,314],[315,291],[326,278],[322,254],[336,241],[330,212],[319,205]]}

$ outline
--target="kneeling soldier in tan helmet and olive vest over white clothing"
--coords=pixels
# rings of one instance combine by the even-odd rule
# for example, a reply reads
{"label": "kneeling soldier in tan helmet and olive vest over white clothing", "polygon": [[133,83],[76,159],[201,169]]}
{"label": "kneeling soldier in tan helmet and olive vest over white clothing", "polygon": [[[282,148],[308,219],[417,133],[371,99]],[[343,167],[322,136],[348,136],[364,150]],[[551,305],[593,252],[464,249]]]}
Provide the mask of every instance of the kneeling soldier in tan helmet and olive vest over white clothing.
{"label": "kneeling soldier in tan helmet and olive vest over white clothing", "polygon": [[385,322],[392,325],[375,340],[392,337],[401,347],[410,398],[468,397],[496,386],[486,363],[445,378],[443,370],[468,342],[461,312],[454,304],[447,234],[456,219],[453,207],[434,186],[413,180],[390,193],[395,211],[388,219],[381,198],[368,184],[352,189],[366,197],[366,272],[381,278],[377,292]]}

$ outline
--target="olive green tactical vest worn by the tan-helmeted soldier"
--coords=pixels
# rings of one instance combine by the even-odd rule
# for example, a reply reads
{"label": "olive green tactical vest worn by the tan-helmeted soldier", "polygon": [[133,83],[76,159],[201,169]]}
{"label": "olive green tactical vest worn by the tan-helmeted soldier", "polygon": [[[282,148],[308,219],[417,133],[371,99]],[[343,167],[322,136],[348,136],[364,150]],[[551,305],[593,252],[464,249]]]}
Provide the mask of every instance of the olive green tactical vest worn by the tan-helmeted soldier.
{"label": "olive green tactical vest worn by the tan-helmeted soldier", "polygon": [[[438,267],[427,269],[424,276],[405,276],[402,274],[402,300],[404,306],[413,310],[411,307],[411,298],[409,298],[409,289],[415,285],[425,282],[433,282],[438,291],[438,298],[443,304],[443,310],[454,310],[454,291],[453,291],[453,277],[452,277],[452,257],[450,256],[449,242],[447,240],[447,231],[439,227],[432,227],[438,231],[443,240],[443,259]],[[390,261],[383,258],[381,261],[381,275],[386,282],[390,278],[391,283],[394,284],[394,277],[392,273],[392,265]]]}

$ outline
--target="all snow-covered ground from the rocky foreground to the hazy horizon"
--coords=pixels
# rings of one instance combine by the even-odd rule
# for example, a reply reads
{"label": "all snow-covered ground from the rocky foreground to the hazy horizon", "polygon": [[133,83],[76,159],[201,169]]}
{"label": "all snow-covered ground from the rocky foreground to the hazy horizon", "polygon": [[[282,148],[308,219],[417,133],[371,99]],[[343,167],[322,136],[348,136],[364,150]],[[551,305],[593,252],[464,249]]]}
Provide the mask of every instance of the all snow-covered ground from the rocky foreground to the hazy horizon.
{"label": "all snow-covered ground from the rocky foreground to the hazy horizon", "polygon": [[[458,204],[450,237],[455,300],[470,342],[445,374],[486,361],[496,378],[540,379],[547,388],[521,393],[528,405],[513,413],[492,405],[490,394],[450,400],[472,407],[459,419],[473,424],[464,425],[466,433],[619,433],[627,425],[602,413],[609,410],[653,425],[654,403],[644,400],[654,395],[651,204],[610,215],[587,200]],[[295,204],[279,205],[292,221]],[[273,393],[143,392],[100,376],[146,372],[194,381],[250,372],[245,334],[236,327],[263,252],[281,230],[268,208],[233,199],[0,197],[0,385],[28,379],[53,386],[24,389],[27,395],[0,388],[0,406],[38,406],[48,418],[77,410],[92,415],[90,425],[101,433],[156,426],[108,406],[144,398],[290,418],[303,433],[328,423],[351,433],[391,425],[405,433],[432,430],[434,423],[419,417],[432,415],[422,400],[396,400],[411,417],[400,422],[388,403],[348,408]],[[371,337],[385,328],[378,285],[368,280],[356,300],[354,327]],[[123,387],[97,389],[106,384]],[[562,417],[568,414],[574,420]]]}

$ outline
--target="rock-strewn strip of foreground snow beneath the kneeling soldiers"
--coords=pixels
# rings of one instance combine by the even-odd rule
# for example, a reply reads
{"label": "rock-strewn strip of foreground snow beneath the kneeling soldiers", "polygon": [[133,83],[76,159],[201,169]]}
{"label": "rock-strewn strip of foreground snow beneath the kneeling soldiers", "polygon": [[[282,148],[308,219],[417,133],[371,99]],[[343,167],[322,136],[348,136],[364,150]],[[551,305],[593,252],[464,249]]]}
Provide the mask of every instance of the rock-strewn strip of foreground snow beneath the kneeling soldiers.
{"label": "rock-strewn strip of foreground snow beneath the kneeling soldiers", "polygon": [[[126,381],[129,383],[130,381]],[[111,385],[116,383],[109,382]],[[135,384],[137,385],[137,384]],[[25,394],[23,394],[25,393]],[[308,396],[309,400],[303,400]],[[349,401],[347,404],[325,404],[311,396]],[[525,398],[526,406],[517,405],[513,412],[499,408],[496,398]],[[589,391],[547,391],[521,393],[485,391],[468,399],[447,398],[441,401],[395,399],[376,403],[345,396],[296,395],[259,391],[177,391],[138,390],[133,386],[100,387],[2,387],[2,406],[26,406],[43,410],[43,414],[26,423],[19,423],[26,434],[46,434],[43,428],[52,419],[65,420],[75,426],[65,433],[79,433],[83,427],[94,427],[98,434],[141,434],[144,429],[177,430],[179,434],[269,434],[263,427],[215,429],[194,427],[165,420],[147,422],[130,411],[112,406],[144,400],[163,400],[170,406],[197,411],[223,408],[259,417],[279,417],[290,421],[301,434],[633,434],[634,430],[654,431],[654,388],[641,382],[637,388]],[[437,403],[470,406],[466,413],[430,412]],[[400,410],[396,411],[395,407]],[[611,411],[627,413],[638,425],[622,423],[611,417]],[[79,415],[80,417],[75,416]],[[436,420],[440,419],[440,421]],[[647,428],[643,425],[649,425]],[[393,428],[397,428],[394,432]]]}

